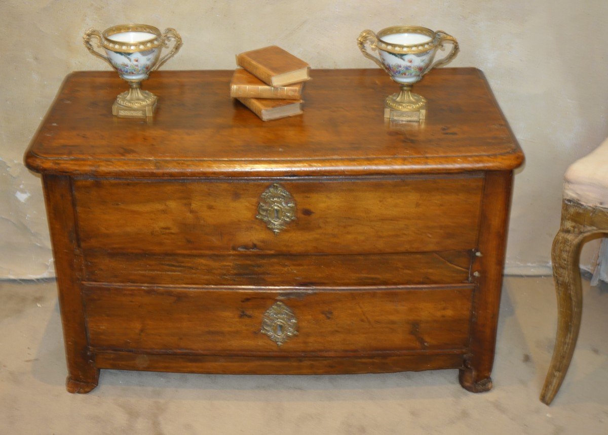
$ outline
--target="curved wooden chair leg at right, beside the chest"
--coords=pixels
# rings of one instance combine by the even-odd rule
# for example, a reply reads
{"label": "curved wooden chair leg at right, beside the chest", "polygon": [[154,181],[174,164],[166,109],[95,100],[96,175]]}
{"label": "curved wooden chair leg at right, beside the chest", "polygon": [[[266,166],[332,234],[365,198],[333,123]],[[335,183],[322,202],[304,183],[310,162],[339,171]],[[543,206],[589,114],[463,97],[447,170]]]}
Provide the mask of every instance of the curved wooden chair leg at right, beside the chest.
{"label": "curved wooden chair leg at right, beside the chest", "polygon": [[[570,228],[572,231],[572,228]],[[582,292],[579,254],[583,235],[564,231],[553,240],[552,260],[558,297],[558,333],[553,358],[541,391],[541,402],[549,405],[564,381],[581,326]]]}

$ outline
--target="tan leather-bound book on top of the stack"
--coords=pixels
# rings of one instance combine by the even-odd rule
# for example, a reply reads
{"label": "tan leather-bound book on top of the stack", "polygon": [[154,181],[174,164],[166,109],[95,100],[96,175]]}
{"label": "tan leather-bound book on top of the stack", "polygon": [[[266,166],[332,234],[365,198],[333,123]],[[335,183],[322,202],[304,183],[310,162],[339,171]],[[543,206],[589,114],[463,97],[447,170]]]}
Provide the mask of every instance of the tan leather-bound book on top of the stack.
{"label": "tan leather-bound book on top of the stack", "polygon": [[237,65],[270,86],[285,86],[310,79],[310,66],[277,46],[241,53],[237,55]]}

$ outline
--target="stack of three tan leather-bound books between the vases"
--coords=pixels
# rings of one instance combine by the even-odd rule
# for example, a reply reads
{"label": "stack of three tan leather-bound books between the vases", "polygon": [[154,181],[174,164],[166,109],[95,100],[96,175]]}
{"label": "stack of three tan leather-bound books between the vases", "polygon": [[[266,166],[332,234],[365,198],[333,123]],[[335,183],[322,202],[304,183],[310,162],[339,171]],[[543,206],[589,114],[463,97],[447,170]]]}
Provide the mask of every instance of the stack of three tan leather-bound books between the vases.
{"label": "stack of three tan leather-bound books between the vases", "polygon": [[237,55],[230,81],[230,96],[238,99],[262,121],[302,113],[302,89],[310,79],[310,66],[277,46]]}

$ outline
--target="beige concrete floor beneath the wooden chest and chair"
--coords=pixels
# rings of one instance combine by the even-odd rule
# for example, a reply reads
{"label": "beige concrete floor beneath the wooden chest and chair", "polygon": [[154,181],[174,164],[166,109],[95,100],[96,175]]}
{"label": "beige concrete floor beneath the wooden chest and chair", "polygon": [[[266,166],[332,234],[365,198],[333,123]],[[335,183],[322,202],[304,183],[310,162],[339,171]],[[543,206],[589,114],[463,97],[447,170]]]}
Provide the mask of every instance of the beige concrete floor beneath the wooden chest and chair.
{"label": "beige concrete floor beneath the wooden chest and chair", "polygon": [[102,370],[68,394],[54,282],[0,282],[0,434],[606,434],[608,291],[584,283],[581,334],[551,406],[551,278],[505,279],[489,393],[457,370],[213,376]]}

